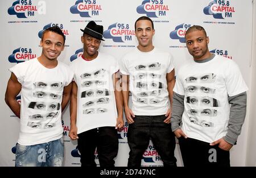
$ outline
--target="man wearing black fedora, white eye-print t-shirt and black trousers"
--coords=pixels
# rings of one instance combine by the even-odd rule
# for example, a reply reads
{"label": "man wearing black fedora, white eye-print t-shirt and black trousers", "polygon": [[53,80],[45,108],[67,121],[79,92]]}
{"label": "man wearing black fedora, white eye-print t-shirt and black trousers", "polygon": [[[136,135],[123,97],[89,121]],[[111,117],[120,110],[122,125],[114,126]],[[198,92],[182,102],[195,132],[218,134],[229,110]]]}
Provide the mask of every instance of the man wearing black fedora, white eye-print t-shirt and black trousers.
{"label": "man wearing black fedora, white eye-print t-shirt and black trousers", "polygon": [[96,147],[101,167],[113,167],[118,152],[117,128],[123,127],[122,92],[118,62],[113,56],[98,51],[103,26],[90,21],[81,42],[82,56],[72,61],[75,72],[71,95],[71,129],[69,137],[77,139],[81,166],[96,166]]}

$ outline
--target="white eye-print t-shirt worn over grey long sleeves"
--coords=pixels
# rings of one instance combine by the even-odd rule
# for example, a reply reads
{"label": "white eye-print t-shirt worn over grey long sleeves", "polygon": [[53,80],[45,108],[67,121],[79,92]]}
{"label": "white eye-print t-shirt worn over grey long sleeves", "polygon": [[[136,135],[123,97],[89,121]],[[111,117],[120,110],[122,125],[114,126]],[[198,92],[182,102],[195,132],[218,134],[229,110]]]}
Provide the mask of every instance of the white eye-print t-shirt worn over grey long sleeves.
{"label": "white eye-print t-shirt worn over grey long sleeves", "polygon": [[226,135],[228,96],[246,92],[237,64],[216,55],[205,63],[192,61],[179,69],[174,92],[184,97],[181,129],[189,137],[214,142]]}

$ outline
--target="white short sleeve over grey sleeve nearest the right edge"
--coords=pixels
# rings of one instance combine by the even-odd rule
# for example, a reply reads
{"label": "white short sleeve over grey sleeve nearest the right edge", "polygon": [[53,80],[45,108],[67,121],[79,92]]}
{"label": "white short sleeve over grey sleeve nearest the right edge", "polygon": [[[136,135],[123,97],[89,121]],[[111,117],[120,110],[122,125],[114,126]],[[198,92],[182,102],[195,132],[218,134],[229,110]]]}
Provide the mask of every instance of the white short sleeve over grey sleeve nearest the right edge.
{"label": "white short sleeve over grey sleeve nearest the right edge", "polygon": [[234,61],[229,61],[229,66],[225,69],[225,82],[228,90],[228,95],[235,96],[248,90],[245,81],[243,80],[240,69]]}

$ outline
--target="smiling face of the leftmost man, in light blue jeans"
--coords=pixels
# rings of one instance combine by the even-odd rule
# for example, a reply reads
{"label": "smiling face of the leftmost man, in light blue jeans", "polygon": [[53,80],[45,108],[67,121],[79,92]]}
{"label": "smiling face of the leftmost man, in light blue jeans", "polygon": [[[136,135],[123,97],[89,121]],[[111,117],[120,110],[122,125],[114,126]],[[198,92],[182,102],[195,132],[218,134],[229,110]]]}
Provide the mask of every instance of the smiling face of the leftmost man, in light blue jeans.
{"label": "smiling face of the leftmost man, in light blue jeans", "polygon": [[55,32],[47,31],[43,35],[40,45],[43,48],[42,56],[44,58],[51,61],[57,60],[57,57],[64,49],[64,38]]}

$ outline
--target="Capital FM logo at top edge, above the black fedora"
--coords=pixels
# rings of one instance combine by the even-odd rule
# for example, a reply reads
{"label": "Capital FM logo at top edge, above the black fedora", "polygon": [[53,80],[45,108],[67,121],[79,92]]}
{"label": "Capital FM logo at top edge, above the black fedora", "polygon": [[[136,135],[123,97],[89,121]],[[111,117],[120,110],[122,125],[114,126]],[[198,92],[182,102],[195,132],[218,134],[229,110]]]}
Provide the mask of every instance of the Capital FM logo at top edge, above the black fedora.
{"label": "Capital FM logo at top edge, above the black fedora", "polygon": [[98,16],[102,7],[96,0],[77,0],[75,5],[70,7],[72,14],[79,14],[81,17]]}

